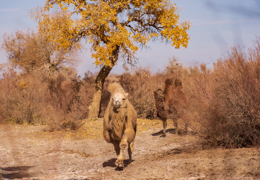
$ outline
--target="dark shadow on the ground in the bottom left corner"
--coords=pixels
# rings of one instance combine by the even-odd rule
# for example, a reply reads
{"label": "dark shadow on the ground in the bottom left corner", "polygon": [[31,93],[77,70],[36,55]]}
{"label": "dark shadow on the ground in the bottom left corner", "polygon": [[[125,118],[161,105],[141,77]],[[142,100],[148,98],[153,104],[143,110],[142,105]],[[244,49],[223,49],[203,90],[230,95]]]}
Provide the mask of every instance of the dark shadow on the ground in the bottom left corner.
{"label": "dark shadow on the ground in the bottom left corner", "polygon": [[[0,167],[4,172],[0,174],[0,177],[5,179],[22,179],[31,177],[26,171],[34,166],[13,166],[13,167]],[[9,172],[6,172],[9,171]]]}

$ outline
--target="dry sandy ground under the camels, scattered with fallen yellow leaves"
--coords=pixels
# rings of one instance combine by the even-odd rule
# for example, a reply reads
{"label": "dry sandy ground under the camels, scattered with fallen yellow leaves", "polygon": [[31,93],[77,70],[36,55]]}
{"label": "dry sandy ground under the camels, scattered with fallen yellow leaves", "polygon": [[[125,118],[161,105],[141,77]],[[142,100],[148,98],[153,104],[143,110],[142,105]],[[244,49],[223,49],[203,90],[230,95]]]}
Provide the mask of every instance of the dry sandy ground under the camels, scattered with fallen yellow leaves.
{"label": "dry sandy ground under the camels, scattered with fallen yellow leaves", "polygon": [[125,149],[123,170],[114,165],[113,145],[102,138],[102,119],[77,132],[0,125],[2,179],[260,179],[258,147],[203,149],[196,135],[160,137],[160,122],[139,124],[134,165],[127,166]]}

